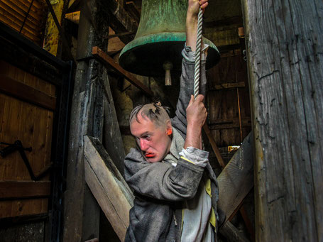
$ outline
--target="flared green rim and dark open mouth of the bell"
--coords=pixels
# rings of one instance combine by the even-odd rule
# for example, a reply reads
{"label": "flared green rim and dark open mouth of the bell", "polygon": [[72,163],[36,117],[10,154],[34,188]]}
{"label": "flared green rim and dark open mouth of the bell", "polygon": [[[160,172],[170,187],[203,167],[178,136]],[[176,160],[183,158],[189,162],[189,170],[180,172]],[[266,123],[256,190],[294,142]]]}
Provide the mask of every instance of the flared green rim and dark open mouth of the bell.
{"label": "flared green rim and dark open mouth of the bell", "polygon": [[[186,35],[179,32],[164,32],[135,38],[124,47],[119,56],[119,64],[128,72],[148,77],[164,77],[163,64],[173,63],[172,75],[179,75],[182,69],[182,49]],[[207,51],[207,69],[217,65],[219,50],[207,38],[203,43],[209,45]]]}

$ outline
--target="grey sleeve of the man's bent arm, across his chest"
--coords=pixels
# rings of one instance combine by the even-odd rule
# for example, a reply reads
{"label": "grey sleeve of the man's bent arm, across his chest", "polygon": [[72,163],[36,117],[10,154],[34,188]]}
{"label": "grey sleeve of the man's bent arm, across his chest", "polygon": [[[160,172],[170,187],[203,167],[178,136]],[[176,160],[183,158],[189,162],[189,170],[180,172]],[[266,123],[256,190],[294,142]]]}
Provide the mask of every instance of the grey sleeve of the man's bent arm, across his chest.
{"label": "grey sleeve of the man's bent arm, across his chest", "polygon": [[180,158],[170,163],[148,163],[132,148],[125,159],[125,179],[138,194],[165,201],[182,201],[195,196],[204,167]]}

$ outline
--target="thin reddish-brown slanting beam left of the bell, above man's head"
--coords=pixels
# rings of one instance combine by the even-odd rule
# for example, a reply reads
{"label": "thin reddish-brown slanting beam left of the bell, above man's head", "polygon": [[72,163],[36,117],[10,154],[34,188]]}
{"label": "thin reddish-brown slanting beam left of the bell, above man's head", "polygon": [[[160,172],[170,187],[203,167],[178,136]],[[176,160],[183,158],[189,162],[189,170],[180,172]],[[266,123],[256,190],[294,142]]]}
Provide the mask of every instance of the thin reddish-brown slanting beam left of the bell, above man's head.
{"label": "thin reddish-brown slanting beam left of the bell, above man's head", "polygon": [[133,75],[131,75],[130,72],[124,70],[124,68],[122,68],[118,63],[116,63],[114,59],[109,57],[109,55],[106,55],[106,53],[104,53],[104,51],[101,50],[99,47],[94,46],[92,48],[92,55],[94,55],[94,57],[97,57],[98,60],[101,60],[107,67],[112,67],[117,73],[119,73],[119,75],[126,78],[128,82],[141,89],[143,93],[147,94],[149,97],[153,97],[153,92],[151,92],[151,90],[148,89],[148,87],[142,84],[138,79],[136,79],[136,77],[133,77]]}

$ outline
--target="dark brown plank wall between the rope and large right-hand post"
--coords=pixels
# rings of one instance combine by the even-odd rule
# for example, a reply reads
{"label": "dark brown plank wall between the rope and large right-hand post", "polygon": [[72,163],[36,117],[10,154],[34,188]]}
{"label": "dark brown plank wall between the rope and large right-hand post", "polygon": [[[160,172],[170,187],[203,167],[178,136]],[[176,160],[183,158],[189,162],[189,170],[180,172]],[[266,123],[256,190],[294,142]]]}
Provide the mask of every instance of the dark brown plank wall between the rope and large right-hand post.
{"label": "dark brown plank wall between the rope and large right-hand post", "polygon": [[[239,128],[238,93],[237,88],[229,87],[231,84],[234,86],[239,84],[243,139],[251,131],[251,113],[246,62],[243,60],[241,50],[221,53],[219,64],[207,71],[207,79],[209,83],[208,123],[214,139],[219,147],[240,145],[242,141]],[[219,89],[219,85],[224,88]]]}

